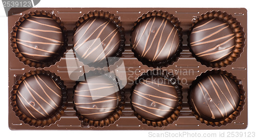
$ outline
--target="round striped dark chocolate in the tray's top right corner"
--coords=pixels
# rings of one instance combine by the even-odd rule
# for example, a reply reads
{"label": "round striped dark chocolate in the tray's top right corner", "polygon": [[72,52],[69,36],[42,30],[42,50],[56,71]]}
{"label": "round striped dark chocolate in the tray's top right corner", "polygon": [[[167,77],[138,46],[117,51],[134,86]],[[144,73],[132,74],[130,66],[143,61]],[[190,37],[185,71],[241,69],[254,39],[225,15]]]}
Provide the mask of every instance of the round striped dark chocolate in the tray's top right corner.
{"label": "round striped dark chocolate in the tray's top right corner", "polygon": [[219,18],[197,22],[189,34],[188,41],[195,57],[208,63],[228,58],[236,44],[232,28]]}

